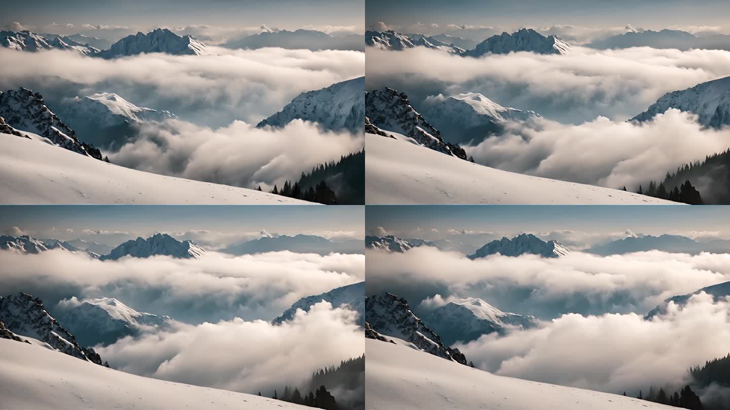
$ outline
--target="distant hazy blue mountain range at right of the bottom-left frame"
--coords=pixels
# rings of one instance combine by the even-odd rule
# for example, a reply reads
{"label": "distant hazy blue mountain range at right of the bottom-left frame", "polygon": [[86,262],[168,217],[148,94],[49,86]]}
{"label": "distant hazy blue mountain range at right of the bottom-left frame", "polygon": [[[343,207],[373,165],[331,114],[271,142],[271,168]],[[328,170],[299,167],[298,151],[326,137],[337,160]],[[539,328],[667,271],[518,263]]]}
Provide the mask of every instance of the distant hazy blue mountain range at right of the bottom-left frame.
{"label": "distant hazy blue mountain range at right of the bottom-left frame", "polygon": [[298,234],[262,236],[258,239],[231,244],[221,252],[233,255],[251,255],[255,253],[277,252],[288,250],[297,253],[331,253],[356,254],[364,252],[363,241],[359,239],[327,239],[317,235]]}

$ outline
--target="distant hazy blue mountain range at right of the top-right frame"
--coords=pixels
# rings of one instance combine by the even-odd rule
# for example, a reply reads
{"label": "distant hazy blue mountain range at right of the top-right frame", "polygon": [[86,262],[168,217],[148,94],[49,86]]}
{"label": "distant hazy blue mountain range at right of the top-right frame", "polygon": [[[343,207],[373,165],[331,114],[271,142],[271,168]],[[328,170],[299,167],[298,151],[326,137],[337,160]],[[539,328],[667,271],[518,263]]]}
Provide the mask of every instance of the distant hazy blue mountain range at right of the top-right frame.
{"label": "distant hazy blue mountain range at right of the top-right frame", "polygon": [[699,47],[702,39],[699,36],[681,30],[634,30],[607,39],[591,42],[585,47],[596,49],[620,49],[629,47],[677,48],[689,50]]}

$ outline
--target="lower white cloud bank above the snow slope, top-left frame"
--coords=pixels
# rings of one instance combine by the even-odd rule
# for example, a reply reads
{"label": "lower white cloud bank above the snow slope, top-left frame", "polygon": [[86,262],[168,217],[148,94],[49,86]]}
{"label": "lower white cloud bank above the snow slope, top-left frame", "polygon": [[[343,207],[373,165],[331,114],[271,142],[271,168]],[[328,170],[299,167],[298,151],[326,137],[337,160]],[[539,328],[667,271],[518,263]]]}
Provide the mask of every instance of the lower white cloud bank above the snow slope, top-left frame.
{"label": "lower white cloud bank above the snow slope, top-left frame", "polygon": [[168,120],[142,125],[137,139],[108,155],[112,163],[140,171],[270,190],[299,179],[304,169],[363,146],[361,136],[320,131],[302,120],[284,128],[236,121],[217,129]]}

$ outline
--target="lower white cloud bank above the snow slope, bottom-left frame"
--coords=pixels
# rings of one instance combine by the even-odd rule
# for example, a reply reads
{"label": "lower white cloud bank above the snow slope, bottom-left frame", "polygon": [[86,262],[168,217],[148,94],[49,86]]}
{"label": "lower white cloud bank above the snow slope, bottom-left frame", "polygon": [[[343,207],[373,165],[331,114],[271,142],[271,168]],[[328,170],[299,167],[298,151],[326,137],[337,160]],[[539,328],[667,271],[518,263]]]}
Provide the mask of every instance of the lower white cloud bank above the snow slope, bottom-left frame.
{"label": "lower white cloud bank above the snow slope, bottom-left frame", "polygon": [[239,318],[126,338],[97,352],[112,367],[142,376],[270,394],[301,386],[315,368],[365,351],[356,313],[316,303],[293,320],[272,325]]}

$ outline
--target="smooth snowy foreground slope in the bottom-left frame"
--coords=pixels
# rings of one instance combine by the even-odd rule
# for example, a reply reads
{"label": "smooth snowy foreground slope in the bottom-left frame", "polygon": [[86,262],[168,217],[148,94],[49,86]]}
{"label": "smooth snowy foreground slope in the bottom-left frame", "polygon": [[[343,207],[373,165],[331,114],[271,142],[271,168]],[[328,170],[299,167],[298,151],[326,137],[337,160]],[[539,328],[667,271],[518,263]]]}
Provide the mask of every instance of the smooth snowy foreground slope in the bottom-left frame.
{"label": "smooth snowy foreground slope in the bottom-left frame", "polygon": [[271,398],[165,382],[0,339],[0,407],[76,409],[310,409]]}

